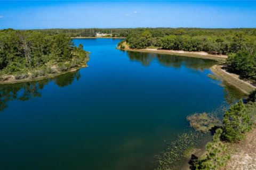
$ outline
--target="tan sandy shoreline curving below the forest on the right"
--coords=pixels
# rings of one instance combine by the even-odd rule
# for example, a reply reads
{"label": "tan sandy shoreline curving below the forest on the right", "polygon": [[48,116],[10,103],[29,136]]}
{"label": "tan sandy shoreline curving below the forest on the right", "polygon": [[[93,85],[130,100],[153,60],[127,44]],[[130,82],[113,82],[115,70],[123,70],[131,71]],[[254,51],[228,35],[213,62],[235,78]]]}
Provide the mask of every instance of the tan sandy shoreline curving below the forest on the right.
{"label": "tan sandy shoreline curving below the forest on the right", "polygon": [[[225,62],[227,55],[212,55],[206,52],[185,52],[182,50],[165,50],[165,49],[131,49],[127,44],[126,41],[122,44],[125,48],[120,50],[127,50],[132,52],[144,52],[144,53],[157,53],[157,54],[167,54],[167,55],[178,55],[178,56],[186,56],[186,57],[194,57],[194,58],[203,58],[209,60],[215,60],[219,62]],[[256,89],[255,86],[246,82],[244,80],[239,79],[239,75],[228,73],[226,70],[221,68],[220,63],[213,65],[210,70],[215,74],[218,75],[222,81],[227,82],[230,86],[235,87],[237,90],[240,90],[245,95],[249,95],[251,91]]]}

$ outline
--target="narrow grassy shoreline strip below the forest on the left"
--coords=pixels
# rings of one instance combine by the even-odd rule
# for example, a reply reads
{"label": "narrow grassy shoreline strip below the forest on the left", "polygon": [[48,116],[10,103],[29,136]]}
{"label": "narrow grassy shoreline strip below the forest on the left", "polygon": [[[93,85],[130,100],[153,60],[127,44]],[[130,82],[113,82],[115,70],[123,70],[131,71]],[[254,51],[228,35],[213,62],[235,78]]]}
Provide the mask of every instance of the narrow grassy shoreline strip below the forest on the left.
{"label": "narrow grassy shoreline strip below the forest on the left", "polygon": [[63,71],[63,72],[58,72],[58,73],[53,73],[53,74],[47,74],[47,75],[44,75],[44,76],[41,76],[41,77],[36,77],[36,78],[33,78],[33,79],[25,78],[25,79],[20,79],[20,80],[12,79],[12,80],[0,81],[0,85],[2,85],[2,84],[15,84],[15,83],[22,83],[22,82],[39,81],[39,80],[44,80],[44,79],[50,79],[50,78],[57,77],[58,75],[66,74],[66,73],[69,73],[69,72],[74,72],[74,71],[77,71],[77,70],[79,70],[81,68],[85,68],[85,67],[88,67],[87,64],[83,64],[81,66],[77,66],[77,67],[75,67],[73,69],[70,69],[68,71]]}

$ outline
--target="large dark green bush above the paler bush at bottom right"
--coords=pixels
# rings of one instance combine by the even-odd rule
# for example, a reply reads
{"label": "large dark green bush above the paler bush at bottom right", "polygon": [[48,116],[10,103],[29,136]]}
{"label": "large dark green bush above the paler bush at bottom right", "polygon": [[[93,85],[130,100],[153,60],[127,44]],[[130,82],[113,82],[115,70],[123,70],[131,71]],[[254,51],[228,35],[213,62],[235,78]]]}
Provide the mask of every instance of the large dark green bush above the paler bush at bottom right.
{"label": "large dark green bush above the paler bush at bottom right", "polygon": [[223,118],[222,139],[234,143],[244,139],[245,132],[252,129],[253,121],[251,116],[245,112],[243,101],[231,106],[230,111],[226,111]]}

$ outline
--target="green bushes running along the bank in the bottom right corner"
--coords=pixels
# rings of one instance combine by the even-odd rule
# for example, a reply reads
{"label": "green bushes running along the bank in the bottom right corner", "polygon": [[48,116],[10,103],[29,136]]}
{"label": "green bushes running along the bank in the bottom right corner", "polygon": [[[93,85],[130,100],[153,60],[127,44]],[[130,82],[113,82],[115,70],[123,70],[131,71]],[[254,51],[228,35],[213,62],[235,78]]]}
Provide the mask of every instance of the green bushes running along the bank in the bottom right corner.
{"label": "green bushes running along the bank in the bottom right corner", "polygon": [[[252,92],[251,95],[255,95],[254,93]],[[246,132],[252,130],[255,122],[255,102],[248,101],[246,104],[243,104],[243,101],[240,100],[231,106],[230,111],[226,111],[224,114],[223,126],[216,130],[213,141],[207,143],[206,152],[195,162],[194,169],[217,170],[224,166],[228,159],[230,159],[230,154],[226,147],[228,143],[243,140]]]}

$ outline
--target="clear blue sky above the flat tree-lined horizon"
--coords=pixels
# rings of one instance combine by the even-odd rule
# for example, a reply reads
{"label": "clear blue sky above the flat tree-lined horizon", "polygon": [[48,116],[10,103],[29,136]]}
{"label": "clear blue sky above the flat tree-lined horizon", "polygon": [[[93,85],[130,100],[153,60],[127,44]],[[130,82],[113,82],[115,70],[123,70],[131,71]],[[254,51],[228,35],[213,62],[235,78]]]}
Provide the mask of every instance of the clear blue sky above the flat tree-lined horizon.
{"label": "clear blue sky above the flat tree-lined horizon", "polygon": [[0,29],[255,28],[256,1],[0,1]]}

